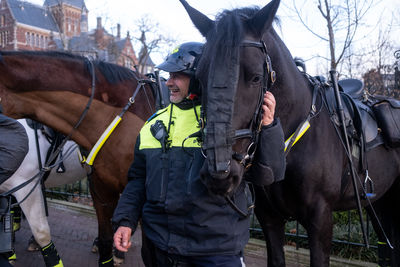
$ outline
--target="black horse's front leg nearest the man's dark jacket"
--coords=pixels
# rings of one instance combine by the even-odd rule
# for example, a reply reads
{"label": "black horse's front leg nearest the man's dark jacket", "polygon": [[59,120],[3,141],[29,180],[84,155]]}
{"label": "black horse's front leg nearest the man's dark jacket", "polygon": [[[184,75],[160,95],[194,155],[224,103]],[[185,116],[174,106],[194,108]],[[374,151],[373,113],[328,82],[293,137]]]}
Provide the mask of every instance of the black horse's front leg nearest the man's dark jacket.
{"label": "black horse's front leg nearest the man's dark jacket", "polygon": [[284,267],[285,221],[274,209],[269,209],[265,191],[255,186],[256,203],[254,212],[261,225],[267,246],[268,267]]}

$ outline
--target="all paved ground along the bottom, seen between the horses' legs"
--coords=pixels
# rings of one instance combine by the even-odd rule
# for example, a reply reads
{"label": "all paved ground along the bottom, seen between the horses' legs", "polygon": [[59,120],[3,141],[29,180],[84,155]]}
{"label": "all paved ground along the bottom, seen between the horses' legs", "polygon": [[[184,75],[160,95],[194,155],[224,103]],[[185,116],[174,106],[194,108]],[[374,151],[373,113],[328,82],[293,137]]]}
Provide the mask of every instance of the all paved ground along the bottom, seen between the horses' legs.
{"label": "all paved ground along the bottom, seen between the horses' legs", "polygon": [[[65,202],[49,202],[49,223],[52,239],[58,249],[65,267],[98,267],[98,255],[91,252],[94,238],[97,236],[97,220],[93,209],[88,211],[87,206],[69,204]],[[83,207],[83,208],[82,208]],[[84,212],[83,212],[84,211]],[[26,220],[22,221],[21,230],[16,233],[17,261],[15,267],[43,267],[44,261],[40,252],[26,251],[31,232]],[[245,250],[247,267],[265,267],[266,249],[262,242],[250,242]],[[140,258],[140,232],[133,237],[133,246],[126,255],[125,263],[121,266],[144,267]],[[309,266],[308,250],[295,250],[285,247],[286,267]],[[334,261],[332,261],[334,259]],[[376,267],[376,264],[354,262],[331,257],[331,267]],[[1,266],[0,266],[1,267]]]}

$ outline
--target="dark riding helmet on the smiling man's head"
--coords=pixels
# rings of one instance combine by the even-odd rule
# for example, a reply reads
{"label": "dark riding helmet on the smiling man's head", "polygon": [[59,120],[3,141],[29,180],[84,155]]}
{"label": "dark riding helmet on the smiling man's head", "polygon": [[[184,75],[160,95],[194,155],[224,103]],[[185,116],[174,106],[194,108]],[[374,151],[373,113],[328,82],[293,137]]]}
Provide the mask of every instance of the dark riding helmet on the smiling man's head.
{"label": "dark riding helmet on the smiling man's head", "polygon": [[175,48],[165,61],[156,68],[166,72],[183,72],[194,76],[202,50],[202,43],[183,43]]}

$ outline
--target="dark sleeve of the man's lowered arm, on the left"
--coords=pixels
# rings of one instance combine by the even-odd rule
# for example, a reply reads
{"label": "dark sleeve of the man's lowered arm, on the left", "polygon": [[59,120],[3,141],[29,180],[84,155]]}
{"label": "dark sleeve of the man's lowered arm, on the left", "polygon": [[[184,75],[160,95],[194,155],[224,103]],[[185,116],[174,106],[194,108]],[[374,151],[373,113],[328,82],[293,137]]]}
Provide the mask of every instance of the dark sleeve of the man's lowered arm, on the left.
{"label": "dark sleeve of the man's lowered arm, on the left", "polygon": [[119,226],[127,226],[136,230],[146,200],[146,158],[143,151],[139,150],[140,138],[135,146],[132,165],[128,171],[128,184],[126,185],[112,218],[113,230]]}

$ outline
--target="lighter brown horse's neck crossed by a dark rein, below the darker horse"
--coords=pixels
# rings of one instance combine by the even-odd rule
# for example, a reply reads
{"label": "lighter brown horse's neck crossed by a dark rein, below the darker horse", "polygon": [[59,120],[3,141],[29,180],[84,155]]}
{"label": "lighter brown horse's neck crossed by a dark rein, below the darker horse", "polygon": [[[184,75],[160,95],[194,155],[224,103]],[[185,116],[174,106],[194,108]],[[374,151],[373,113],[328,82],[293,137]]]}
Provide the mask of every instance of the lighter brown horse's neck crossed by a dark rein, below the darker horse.
{"label": "lighter brown horse's neck crossed by a dark rein, below the darker horse", "polygon": [[82,124],[73,131],[86,107],[87,97],[58,91],[31,91],[12,96],[8,101],[13,102],[13,117],[32,118],[65,135],[73,132],[72,139],[88,148],[119,110],[95,100]]}

